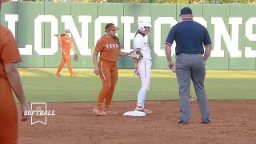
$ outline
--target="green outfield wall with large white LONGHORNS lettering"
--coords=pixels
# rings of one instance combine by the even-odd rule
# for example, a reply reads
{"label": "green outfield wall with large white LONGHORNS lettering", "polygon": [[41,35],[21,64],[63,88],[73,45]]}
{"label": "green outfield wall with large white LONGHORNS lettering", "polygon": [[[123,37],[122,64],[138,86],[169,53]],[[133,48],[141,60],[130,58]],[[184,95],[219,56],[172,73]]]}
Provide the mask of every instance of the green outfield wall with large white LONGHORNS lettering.
{"label": "green outfield wall with large white LONGHORNS lettering", "polygon": [[[123,51],[130,51],[138,20],[148,18],[154,26],[148,37],[153,68],[166,69],[164,42],[170,28],[180,22],[184,6],[190,6],[194,20],[209,30],[214,50],[207,69],[256,69],[256,5],[8,2],[2,5],[0,18],[18,42],[23,59],[19,67],[57,67],[61,50],[53,34],[70,29],[82,56],[73,62],[76,68],[93,66],[94,46],[106,23],[118,25]],[[118,65],[133,67],[130,58],[119,58]]]}

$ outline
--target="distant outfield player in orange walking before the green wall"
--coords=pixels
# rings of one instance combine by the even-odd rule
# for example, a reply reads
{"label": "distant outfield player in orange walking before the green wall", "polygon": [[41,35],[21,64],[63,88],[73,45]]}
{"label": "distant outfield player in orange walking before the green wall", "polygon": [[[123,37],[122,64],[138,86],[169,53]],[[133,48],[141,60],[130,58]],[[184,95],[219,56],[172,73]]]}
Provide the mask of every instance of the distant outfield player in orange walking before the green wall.
{"label": "distant outfield player in orange walking before the green wall", "polygon": [[67,67],[70,71],[70,77],[76,77],[76,75],[72,70],[71,59],[70,59],[70,49],[72,49],[74,51],[74,54],[76,54],[76,51],[74,50],[72,38],[70,38],[70,30],[65,30],[65,34],[63,36],[58,34],[58,42],[59,42],[59,45],[62,46],[62,62],[58,66],[58,71],[56,73],[56,76],[57,77],[61,76],[59,73],[61,72],[65,63],[67,63]]}

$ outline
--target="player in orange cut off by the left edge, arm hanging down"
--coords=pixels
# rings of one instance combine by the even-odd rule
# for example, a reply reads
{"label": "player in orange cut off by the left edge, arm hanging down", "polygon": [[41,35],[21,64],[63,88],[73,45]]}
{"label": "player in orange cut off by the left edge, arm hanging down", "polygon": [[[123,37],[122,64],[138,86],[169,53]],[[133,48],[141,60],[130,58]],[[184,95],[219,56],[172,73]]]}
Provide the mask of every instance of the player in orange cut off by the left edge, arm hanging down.
{"label": "player in orange cut off by the left edge, arm hanging down", "polygon": [[[2,2],[0,0],[0,9]],[[18,74],[16,62],[22,61],[13,34],[6,27],[0,25],[0,143],[18,143],[18,113],[14,94],[22,108],[22,121],[28,120],[24,111],[29,110],[26,104],[21,78]]]}

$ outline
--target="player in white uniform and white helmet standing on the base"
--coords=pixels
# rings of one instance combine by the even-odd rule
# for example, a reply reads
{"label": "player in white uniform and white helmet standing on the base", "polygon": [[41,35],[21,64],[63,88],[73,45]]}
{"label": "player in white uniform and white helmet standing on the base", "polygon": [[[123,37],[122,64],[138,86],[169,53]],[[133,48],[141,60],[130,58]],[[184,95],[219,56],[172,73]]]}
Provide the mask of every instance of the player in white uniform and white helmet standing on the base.
{"label": "player in white uniform and white helmet standing on the base", "polygon": [[138,22],[138,31],[134,38],[134,51],[141,52],[143,57],[141,59],[134,58],[135,73],[140,75],[142,87],[138,92],[138,103],[135,111],[142,111],[147,114],[152,113],[145,108],[146,91],[150,88],[150,69],[152,66],[152,58],[150,54],[150,47],[146,41],[145,36],[150,33],[150,21],[143,20]]}

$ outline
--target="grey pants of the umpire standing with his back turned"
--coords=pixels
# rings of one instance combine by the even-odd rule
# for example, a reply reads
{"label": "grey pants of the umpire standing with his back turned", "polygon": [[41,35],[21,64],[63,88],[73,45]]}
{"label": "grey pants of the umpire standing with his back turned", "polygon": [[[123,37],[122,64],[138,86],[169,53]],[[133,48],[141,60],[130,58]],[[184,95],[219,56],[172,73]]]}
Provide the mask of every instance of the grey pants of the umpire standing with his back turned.
{"label": "grey pants of the umpire standing with his back turned", "polygon": [[179,86],[179,102],[181,109],[180,120],[188,122],[191,118],[190,111],[190,78],[194,84],[199,107],[202,115],[202,122],[209,119],[209,110],[206,102],[206,91],[204,80],[206,76],[205,62],[202,54],[185,54],[177,56],[176,73]]}

